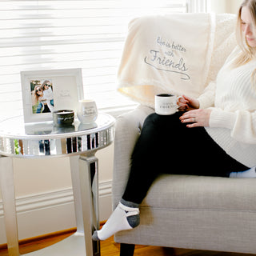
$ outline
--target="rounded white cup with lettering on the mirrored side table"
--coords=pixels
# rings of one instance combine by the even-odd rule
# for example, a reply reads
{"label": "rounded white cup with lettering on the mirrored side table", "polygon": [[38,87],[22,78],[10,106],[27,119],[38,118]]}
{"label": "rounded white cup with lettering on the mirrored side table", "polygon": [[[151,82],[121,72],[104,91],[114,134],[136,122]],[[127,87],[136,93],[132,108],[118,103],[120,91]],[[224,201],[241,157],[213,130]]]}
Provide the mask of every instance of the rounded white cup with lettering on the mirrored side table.
{"label": "rounded white cup with lettering on the mirrored side table", "polygon": [[82,123],[91,123],[98,117],[96,102],[92,99],[83,99],[78,103],[78,119]]}

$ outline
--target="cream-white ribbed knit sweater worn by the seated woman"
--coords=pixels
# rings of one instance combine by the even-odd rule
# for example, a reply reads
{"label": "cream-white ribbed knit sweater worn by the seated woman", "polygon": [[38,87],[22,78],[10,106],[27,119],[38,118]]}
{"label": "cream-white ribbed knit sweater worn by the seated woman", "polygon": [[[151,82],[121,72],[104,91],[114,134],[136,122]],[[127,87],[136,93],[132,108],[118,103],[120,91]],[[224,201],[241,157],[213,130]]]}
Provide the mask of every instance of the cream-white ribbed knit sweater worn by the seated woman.
{"label": "cream-white ribbed knit sweater worn by the seated woman", "polygon": [[[256,166],[256,90],[250,79],[256,68],[256,59],[231,68],[230,64],[239,51],[237,47],[218,73],[210,127],[206,127],[206,131],[227,154],[252,167]],[[209,104],[213,90],[211,84],[206,93]],[[202,101],[202,106],[206,105]]]}

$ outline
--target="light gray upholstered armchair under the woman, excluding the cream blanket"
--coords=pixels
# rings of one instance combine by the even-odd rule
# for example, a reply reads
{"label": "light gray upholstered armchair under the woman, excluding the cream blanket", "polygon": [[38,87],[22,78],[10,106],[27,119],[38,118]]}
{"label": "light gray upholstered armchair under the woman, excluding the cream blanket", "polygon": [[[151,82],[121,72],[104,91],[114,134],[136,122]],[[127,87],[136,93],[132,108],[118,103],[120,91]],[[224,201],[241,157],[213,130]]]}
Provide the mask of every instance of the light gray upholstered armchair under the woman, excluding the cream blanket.
{"label": "light gray upholstered armchair under the woman, excluding the cream blanket", "polygon": [[[117,120],[114,208],[126,186],[134,143],[146,116],[153,111],[138,106]],[[186,163],[182,165],[186,167]],[[126,255],[130,250],[133,255],[134,244],[256,254],[255,198],[254,178],[165,174],[154,182],[142,202],[141,224],[119,232],[115,241],[122,243]]]}

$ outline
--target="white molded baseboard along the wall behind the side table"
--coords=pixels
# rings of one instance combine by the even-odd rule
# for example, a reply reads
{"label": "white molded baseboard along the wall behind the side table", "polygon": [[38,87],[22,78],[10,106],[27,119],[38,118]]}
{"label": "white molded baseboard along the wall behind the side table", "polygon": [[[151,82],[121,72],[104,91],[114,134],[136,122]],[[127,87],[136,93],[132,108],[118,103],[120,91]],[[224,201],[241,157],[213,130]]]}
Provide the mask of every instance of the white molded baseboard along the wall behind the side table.
{"label": "white molded baseboard along the wall behind the side table", "polygon": [[[99,184],[100,221],[111,213],[111,181]],[[26,239],[74,228],[74,198],[71,188],[33,194],[16,199],[18,238]],[[2,202],[0,202],[0,244],[6,243]]]}

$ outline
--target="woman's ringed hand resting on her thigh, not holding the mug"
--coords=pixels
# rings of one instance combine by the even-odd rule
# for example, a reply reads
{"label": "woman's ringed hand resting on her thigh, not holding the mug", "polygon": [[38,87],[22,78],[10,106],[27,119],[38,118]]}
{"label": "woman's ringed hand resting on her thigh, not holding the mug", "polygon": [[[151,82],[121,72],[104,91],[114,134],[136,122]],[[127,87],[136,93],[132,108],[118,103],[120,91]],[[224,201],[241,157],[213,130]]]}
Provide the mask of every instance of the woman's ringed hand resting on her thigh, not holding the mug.
{"label": "woman's ringed hand resting on her thigh, not holding the mug", "polygon": [[182,114],[180,117],[181,122],[190,122],[187,127],[193,128],[198,126],[209,126],[210,120],[210,109],[198,109],[198,110],[190,110]]}

